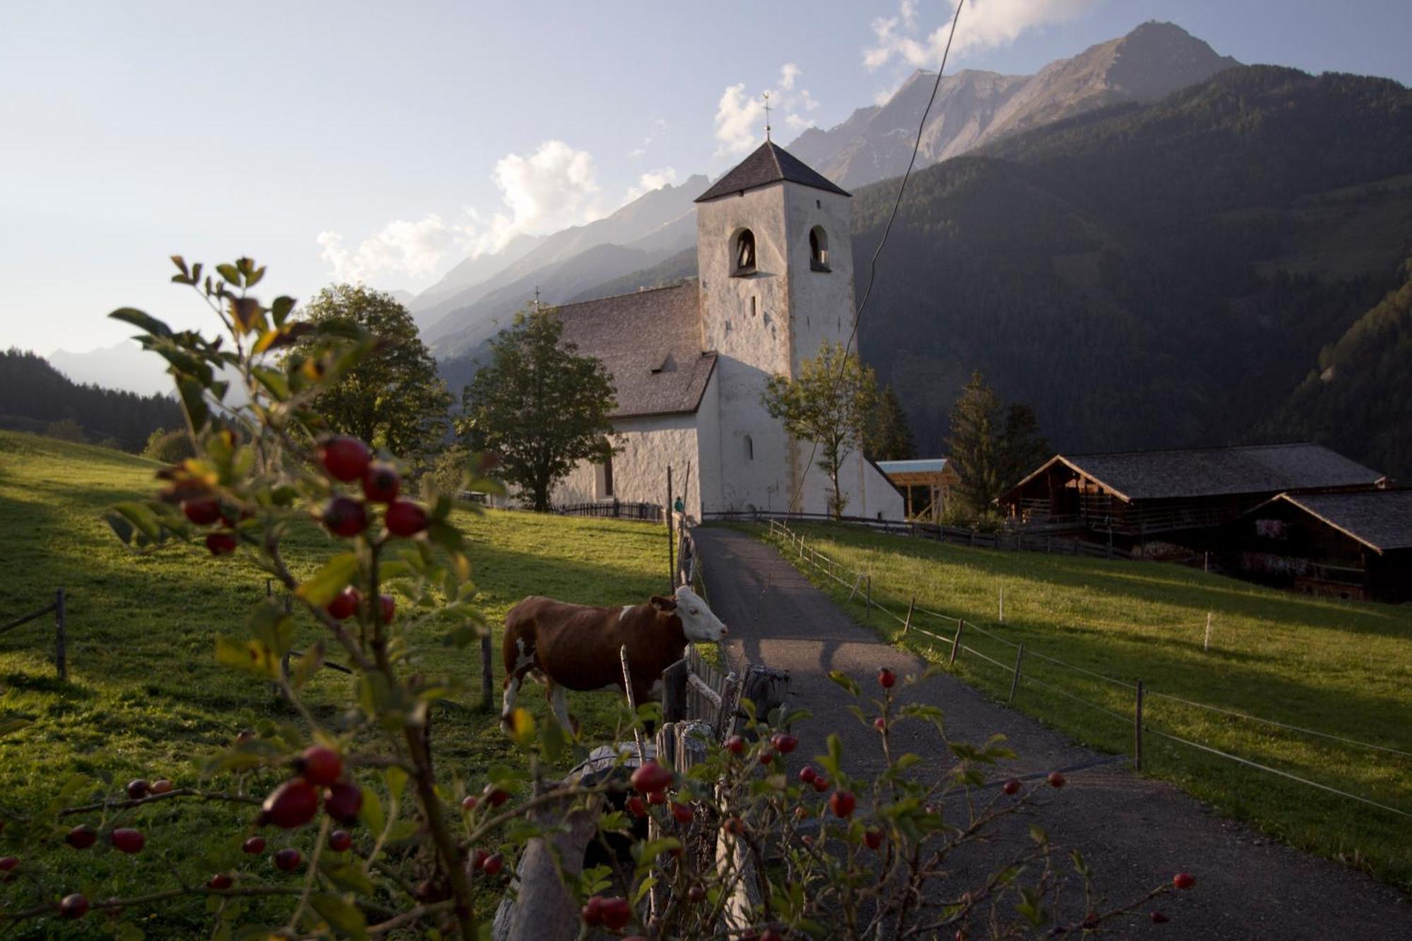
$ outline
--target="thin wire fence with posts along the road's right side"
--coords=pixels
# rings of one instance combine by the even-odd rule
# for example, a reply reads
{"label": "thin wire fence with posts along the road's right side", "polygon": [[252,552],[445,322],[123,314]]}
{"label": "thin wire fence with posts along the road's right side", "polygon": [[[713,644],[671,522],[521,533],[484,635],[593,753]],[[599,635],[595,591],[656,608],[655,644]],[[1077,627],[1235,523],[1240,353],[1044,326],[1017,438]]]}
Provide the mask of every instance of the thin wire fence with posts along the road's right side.
{"label": "thin wire fence with posts along the road's right side", "polygon": [[[1204,754],[1210,754],[1210,756],[1214,756],[1214,757],[1219,757],[1219,759],[1223,759],[1223,760],[1234,762],[1234,763],[1237,763],[1240,766],[1255,769],[1258,771],[1264,771],[1264,773],[1268,773],[1268,774],[1274,774],[1274,776],[1278,776],[1278,777],[1289,780],[1289,781],[1295,781],[1295,783],[1302,784],[1302,786],[1317,788],[1320,791],[1327,791],[1330,794],[1337,794],[1337,795],[1344,797],[1347,800],[1353,800],[1353,801],[1357,801],[1357,803],[1368,805],[1368,807],[1375,807],[1378,810],[1387,811],[1389,814],[1395,814],[1398,817],[1412,818],[1412,812],[1409,812],[1406,810],[1401,810],[1398,807],[1392,807],[1392,805],[1389,805],[1387,803],[1377,801],[1377,800],[1372,800],[1372,798],[1368,798],[1368,797],[1364,797],[1364,795],[1360,795],[1360,794],[1351,794],[1351,793],[1348,793],[1346,790],[1333,787],[1330,784],[1323,784],[1323,783],[1319,783],[1319,781],[1313,781],[1313,780],[1309,780],[1309,779],[1302,777],[1299,774],[1293,774],[1291,771],[1285,771],[1285,770],[1281,770],[1281,769],[1276,769],[1276,767],[1271,767],[1268,764],[1262,764],[1262,763],[1255,762],[1255,760],[1248,759],[1248,757],[1233,754],[1233,753],[1230,753],[1227,750],[1223,750],[1223,749],[1219,749],[1219,747],[1216,747],[1216,746],[1213,746],[1210,743],[1197,742],[1195,739],[1185,738],[1185,736],[1180,736],[1180,735],[1175,735],[1172,732],[1168,732],[1168,730],[1163,730],[1161,728],[1156,728],[1151,722],[1151,716],[1144,718],[1142,702],[1144,702],[1145,697],[1147,698],[1162,699],[1162,701],[1166,701],[1166,702],[1173,702],[1173,704],[1179,704],[1179,705],[1195,708],[1195,709],[1204,709],[1204,711],[1209,711],[1209,712],[1220,714],[1220,715],[1224,715],[1224,716],[1228,716],[1228,718],[1233,718],[1233,719],[1241,719],[1244,722],[1254,722],[1254,723],[1269,726],[1269,728],[1279,728],[1279,729],[1285,729],[1288,732],[1296,732],[1296,733],[1300,733],[1300,735],[1309,735],[1309,736],[1324,739],[1324,740],[1339,742],[1341,745],[1347,745],[1347,746],[1353,746],[1353,747],[1361,747],[1361,749],[1368,749],[1368,750],[1374,750],[1374,752],[1381,752],[1381,753],[1387,753],[1387,754],[1395,754],[1395,756],[1399,756],[1399,757],[1412,759],[1412,750],[1409,750],[1409,749],[1394,747],[1394,746],[1388,746],[1388,745],[1378,745],[1378,743],[1374,743],[1374,742],[1363,742],[1363,740],[1353,739],[1353,738],[1348,738],[1348,736],[1336,735],[1336,733],[1332,733],[1332,732],[1322,732],[1319,729],[1310,729],[1310,728],[1305,728],[1305,726],[1299,726],[1299,725],[1292,725],[1292,723],[1288,723],[1288,722],[1278,722],[1275,719],[1267,719],[1267,718],[1262,718],[1262,716],[1251,715],[1248,712],[1241,712],[1238,709],[1230,709],[1230,708],[1226,708],[1226,706],[1217,706],[1217,705],[1211,705],[1211,704],[1207,704],[1207,702],[1197,702],[1195,699],[1187,699],[1185,697],[1173,695],[1173,694],[1169,694],[1169,692],[1158,692],[1158,691],[1152,691],[1152,690],[1145,690],[1144,688],[1144,682],[1141,680],[1132,680],[1132,681],[1130,681],[1130,680],[1123,680],[1123,678],[1118,678],[1118,677],[1111,677],[1111,675],[1107,675],[1107,674],[1100,673],[1097,670],[1090,670],[1089,667],[1083,667],[1083,665],[1079,665],[1079,664],[1075,664],[1075,663],[1069,663],[1069,661],[1066,661],[1066,660],[1063,660],[1060,657],[1055,657],[1053,654],[1048,654],[1048,653],[1042,653],[1039,650],[1034,650],[1032,647],[1027,646],[1025,643],[1015,641],[1015,640],[1011,640],[1008,637],[1003,637],[1003,636],[997,634],[993,630],[987,630],[986,627],[981,627],[980,625],[974,623],[973,620],[967,620],[964,617],[957,617],[955,615],[946,615],[946,613],[942,613],[942,612],[936,612],[936,610],[931,610],[931,609],[926,609],[926,608],[921,608],[916,603],[915,598],[911,599],[909,603],[907,605],[905,613],[899,615],[897,610],[894,610],[887,603],[884,603],[884,600],[881,598],[878,598],[878,596],[874,595],[871,574],[868,574],[866,571],[861,571],[861,569],[850,568],[850,567],[839,562],[837,560],[833,560],[833,558],[825,555],[823,552],[820,552],[815,547],[809,545],[808,541],[803,538],[803,535],[801,535],[801,534],[795,533],[794,530],[791,530],[789,526],[786,523],[784,523],[784,521],[770,520],[768,523],[770,523],[770,534],[772,537],[775,537],[775,538],[779,538],[779,540],[785,541],[789,545],[789,550],[795,552],[795,555],[796,555],[796,558],[799,561],[809,564],[815,571],[823,574],[825,576],[830,578],[832,581],[837,582],[839,585],[843,585],[844,588],[849,588],[850,589],[849,600],[853,600],[856,596],[861,595],[867,616],[871,616],[873,610],[877,610],[881,615],[885,615],[885,616],[891,617],[892,620],[895,620],[897,623],[899,623],[902,626],[902,637],[904,639],[908,639],[912,634],[921,634],[921,636],[928,637],[931,640],[935,640],[935,641],[938,641],[940,644],[949,646],[950,647],[950,657],[949,657],[949,661],[947,661],[949,664],[955,664],[957,658],[962,658],[963,656],[966,656],[966,657],[979,658],[983,663],[987,663],[987,664],[990,664],[993,667],[997,667],[997,668],[1000,668],[1000,670],[1011,674],[1011,685],[1010,685],[1010,699],[1011,701],[1014,699],[1015,691],[1019,688],[1019,685],[1021,684],[1028,684],[1028,685],[1034,685],[1036,688],[1045,690],[1046,692],[1051,692],[1051,694],[1063,697],[1066,699],[1079,702],[1082,705],[1086,705],[1090,709],[1101,712],[1101,714],[1104,714],[1104,715],[1115,719],[1117,722],[1121,722],[1124,726],[1128,726],[1131,729],[1131,732],[1132,732],[1132,764],[1138,770],[1141,770],[1141,767],[1142,767],[1142,738],[1144,738],[1144,735],[1155,735],[1155,736],[1158,736],[1158,738],[1161,738],[1163,740],[1169,740],[1169,742],[1173,742],[1173,743],[1178,743],[1178,745],[1182,745],[1182,746],[1186,746],[1186,747],[1190,747],[1190,749],[1196,749],[1196,750],[1199,750],[1199,752],[1202,752]],[[943,623],[947,623],[947,625],[955,625],[955,627],[953,627],[950,636],[938,633],[935,630],[929,630],[928,627],[916,623],[918,615],[929,617],[929,619],[933,619],[933,620],[939,620],[939,622],[943,622]],[[1206,626],[1207,626],[1207,633],[1209,633],[1209,629],[1210,629],[1210,619],[1209,617],[1207,617]],[[1014,649],[1017,651],[1015,661],[1012,664],[1011,663],[1004,663],[1003,660],[998,660],[998,658],[995,658],[995,657],[993,657],[993,656],[990,656],[987,653],[983,653],[983,651],[977,650],[974,646],[964,643],[964,639],[967,636],[973,636],[973,634],[984,636],[984,637],[987,637],[990,640],[998,641],[1000,644],[1004,644],[1007,647]],[[1058,667],[1058,668],[1060,668],[1063,671],[1069,671],[1069,673],[1073,673],[1073,674],[1077,674],[1077,675],[1083,675],[1083,677],[1090,677],[1090,678],[1099,680],[1099,681],[1101,681],[1104,684],[1110,684],[1110,687],[1114,688],[1115,691],[1121,691],[1121,695],[1124,695],[1124,697],[1132,695],[1132,704],[1134,704],[1132,705],[1132,712],[1130,712],[1130,714],[1118,712],[1117,709],[1110,708],[1110,705],[1106,705],[1103,702],[1096,702],[1090,697],[1079,695],[1076,692],[1065,690],[1063,687],[1056,685],[1055,682],[1049,682],[1046,680],[1041,680],[1039,677],[1034,675],[1032,673],[1025,673],[1024,671],[1024,661],[1025,661],[1027,657],[1036,657],[1039,660],[1043,660],[1045,663],[1053,664],[1055,667]]]}

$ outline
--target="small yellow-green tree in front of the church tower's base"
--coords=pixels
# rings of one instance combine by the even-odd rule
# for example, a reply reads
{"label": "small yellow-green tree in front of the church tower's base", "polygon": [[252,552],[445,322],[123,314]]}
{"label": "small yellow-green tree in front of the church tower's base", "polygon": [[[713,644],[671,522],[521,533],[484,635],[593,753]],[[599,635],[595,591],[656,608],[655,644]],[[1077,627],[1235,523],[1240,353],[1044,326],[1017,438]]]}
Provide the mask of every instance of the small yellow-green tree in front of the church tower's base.
{"label": "small yellow-green tree in front of the church tower's base", "polygon": [[863,446],[878,398],[877,376],[843,343],[825,341],[818,355],[799,363],[799,377],[772,376],[764,404],[785,431],[818,444],[816,462],[829,475],[829,513],[843,516],[847,499],[839,483],[844,459]]}

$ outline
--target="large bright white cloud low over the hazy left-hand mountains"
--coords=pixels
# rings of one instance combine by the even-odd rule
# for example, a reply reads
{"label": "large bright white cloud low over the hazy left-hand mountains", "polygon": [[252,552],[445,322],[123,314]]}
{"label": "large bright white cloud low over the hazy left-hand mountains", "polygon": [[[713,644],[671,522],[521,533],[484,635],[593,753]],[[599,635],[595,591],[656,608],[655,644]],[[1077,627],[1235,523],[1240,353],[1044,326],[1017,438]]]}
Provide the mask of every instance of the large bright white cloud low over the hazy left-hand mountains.
{"label": "large bright white cloud low over the hazy left-hand mountains", "polygon": [[504,208],[489,220],[473,208],[462,222],[435,213],[418,222],[397,219],[352,249],[342,233],[321,232],[321,257],[339,281],[388,274],[415,280],[433,274],[452,249],[494,253],[517,235],[556,232],[606,212],[593,155],[562,140],[546,140],[528,157],[505,154],[496,162],[494,179]]}

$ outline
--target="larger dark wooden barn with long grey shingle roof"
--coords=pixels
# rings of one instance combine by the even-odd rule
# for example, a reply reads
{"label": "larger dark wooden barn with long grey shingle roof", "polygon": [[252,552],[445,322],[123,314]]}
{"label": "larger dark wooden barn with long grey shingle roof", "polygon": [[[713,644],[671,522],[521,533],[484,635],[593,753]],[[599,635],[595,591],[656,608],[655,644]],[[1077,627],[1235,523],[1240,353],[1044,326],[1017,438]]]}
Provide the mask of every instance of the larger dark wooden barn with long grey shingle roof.
{"label": "larger dark wooden barn with long grey shingle roof", "polygon": [[1276,493],[1384,485],[1377,470],[1316,444],[1058,454],[1000,506],[1018,524],[1135,547],[1214,533]]}

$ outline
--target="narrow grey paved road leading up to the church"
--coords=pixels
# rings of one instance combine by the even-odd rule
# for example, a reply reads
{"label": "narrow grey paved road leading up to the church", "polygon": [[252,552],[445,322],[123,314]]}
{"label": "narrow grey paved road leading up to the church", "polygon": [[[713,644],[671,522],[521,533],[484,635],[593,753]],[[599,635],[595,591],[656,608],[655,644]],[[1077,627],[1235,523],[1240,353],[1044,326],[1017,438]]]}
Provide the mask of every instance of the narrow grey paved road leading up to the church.
{"label": "narrow grey paved road leading up to the church", "polygon": [[[813,712],[799,729],[801,752],[820,753],[826,735],[837,732],[849,766],[864,770],[857,759],[875,752],[877,733],[847,711],[850,697],[827,678],[829,671],[873,684],[882,665],[919,674],[922,661],[854,623],[760,540],[713,527],[696,530],[695,537],[712,608],[730,626],[727,656],[788,670],[794,702]],[[1106,760],[1111,756],[1073,745],[952,677],[909,687],[907,697],[945,709],[953,738],[983,742],[1003,732],[1018,757],[997,777],[1076,769],[1067,773],[1070,784],[1039,811],[1039,822],[1058,845],[1082,849],[1114,901],[1137,899],[1175,872],[1197,876],[1195,890],[1159,900],[1169,924],[1154,925],[1144,917],[1118,925],[1118,937],[1412,940],[1409,900],[1363,873],[1216,818],[1173,786],[1131,774]],[[897,745],[926,757],[923,773],[945,771],[949,756],[936,746],[935,733],[926,736],[915,722],[898,733]],[[1012,839],[1027,839],[1018,821],[1010,829],[1015,832],[983,851],[988,858],[964,862],[971,879],[988,872],[988,860]]]}

